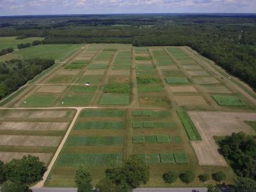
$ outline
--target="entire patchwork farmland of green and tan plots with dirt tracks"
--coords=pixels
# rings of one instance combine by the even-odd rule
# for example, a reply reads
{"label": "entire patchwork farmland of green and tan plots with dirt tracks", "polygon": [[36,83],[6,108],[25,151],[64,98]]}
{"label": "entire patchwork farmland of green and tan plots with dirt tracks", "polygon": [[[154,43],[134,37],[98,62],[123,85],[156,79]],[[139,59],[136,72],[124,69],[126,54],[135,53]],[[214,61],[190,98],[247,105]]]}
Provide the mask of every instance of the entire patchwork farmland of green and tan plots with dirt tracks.
{"label": "entire patchwork farmland of green and tan plots with dirt tracks", "polygon": [[62,62],[1,102],[0,159],[39,156],[47,187],[76,186],[80,164],[97,184],[132,154],[150,167],[145,187],[205,186],[164,183],[170,170],[221,170],[234,182],[214,136],[255,134],[256,100],[212,63],[189,47],[40,46],[22,57]]}

